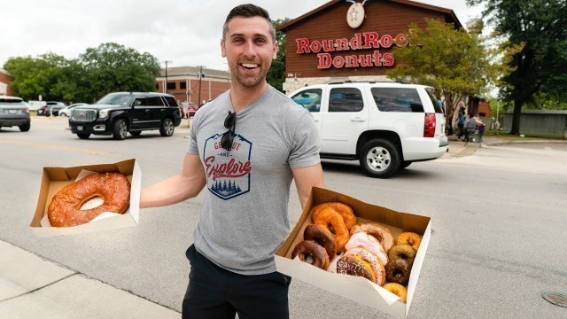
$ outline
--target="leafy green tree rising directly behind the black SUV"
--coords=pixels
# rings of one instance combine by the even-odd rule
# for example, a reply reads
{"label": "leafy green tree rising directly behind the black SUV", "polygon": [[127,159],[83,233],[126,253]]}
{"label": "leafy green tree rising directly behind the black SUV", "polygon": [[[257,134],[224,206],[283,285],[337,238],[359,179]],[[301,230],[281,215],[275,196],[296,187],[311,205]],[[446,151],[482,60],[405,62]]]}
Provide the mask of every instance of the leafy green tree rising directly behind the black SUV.
{"label": "leafy green tree rising directly behind the black SUV", "polygon": [[154,91],[156,88],[159,62],[148,52],[103,43],[87,49],[79,59],[94,99],[113,91]]}

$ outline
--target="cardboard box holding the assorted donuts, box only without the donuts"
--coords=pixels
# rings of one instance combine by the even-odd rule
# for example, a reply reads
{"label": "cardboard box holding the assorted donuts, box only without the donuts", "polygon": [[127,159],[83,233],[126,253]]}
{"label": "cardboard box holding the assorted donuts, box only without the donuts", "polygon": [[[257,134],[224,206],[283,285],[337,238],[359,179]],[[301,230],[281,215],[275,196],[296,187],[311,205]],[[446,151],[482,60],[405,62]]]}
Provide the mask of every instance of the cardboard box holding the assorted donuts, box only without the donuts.
{"label": "cardboard box holding the assorted donuts, box only without the donuts", "polygon": [[[317,268],[299,259],[291,259],[291,252],[295,245],[303,240],[303,233],[307,225],[312,224],[310,218],[311,208],[322,203],[340,202],[353,208],[357,223],[376,222],[392,231],[397,237],[402,231],[415,232],[422,236],[421,245],[416,253],[416,259],[408,283],[407,302],[404,303],[392,292],[386,291],[378,284],[370,282],[361,276],[348,276],[331,273]],[[296,226],[290,235],[283,241],[275,253],[277,271],[313,284],[328,292],[333,292],[362,305],[377,308],[384,313],[405,318],[408,315],[411,301],[416,291],[417,278],[423,266],[423,260],[431,237],[431,218],[417,214],[408,214],[394,211],[382,206],[364,203],[358,199],[344,194],[314,187],[307,200],[303,214],[299,217]]]}

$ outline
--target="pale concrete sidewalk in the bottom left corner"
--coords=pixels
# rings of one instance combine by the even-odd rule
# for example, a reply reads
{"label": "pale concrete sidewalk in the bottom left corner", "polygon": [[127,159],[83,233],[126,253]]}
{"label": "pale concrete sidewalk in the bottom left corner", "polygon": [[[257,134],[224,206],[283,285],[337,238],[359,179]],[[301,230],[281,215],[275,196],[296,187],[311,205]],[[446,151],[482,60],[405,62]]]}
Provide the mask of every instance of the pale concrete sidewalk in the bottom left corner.
{"label": "pale concrete sidewalk in the bottom left corner", "polygon": [[181,318],[0,240],[0,318]]}

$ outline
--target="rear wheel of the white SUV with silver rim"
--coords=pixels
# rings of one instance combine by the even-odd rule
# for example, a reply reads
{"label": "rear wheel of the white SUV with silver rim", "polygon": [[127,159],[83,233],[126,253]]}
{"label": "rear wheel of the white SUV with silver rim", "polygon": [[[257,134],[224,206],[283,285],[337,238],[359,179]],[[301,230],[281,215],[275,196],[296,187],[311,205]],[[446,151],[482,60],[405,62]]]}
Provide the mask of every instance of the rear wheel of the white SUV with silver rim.
{"label": "rear wheel of the white SUV with silver rim", "polygon": [[362,147],[360,162],[367,175],[387,178],[398,171],[400,152],[392,142],[377,138]]}

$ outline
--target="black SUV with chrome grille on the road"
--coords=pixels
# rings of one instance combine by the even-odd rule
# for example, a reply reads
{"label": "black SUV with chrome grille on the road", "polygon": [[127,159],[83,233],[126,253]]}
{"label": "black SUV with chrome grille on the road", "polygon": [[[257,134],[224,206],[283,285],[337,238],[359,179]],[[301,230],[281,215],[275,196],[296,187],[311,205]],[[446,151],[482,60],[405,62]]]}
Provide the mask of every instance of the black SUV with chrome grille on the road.
{"label": "black SUV with chrome grille on the road", "polygon": [[110,93],[97,104],[75,107],[69,117],[71,131],[82,139],[94,134],[122,140],[128,132],[139,136],[150,129],[159,129],[161,136],[172,136],[180,123],[175,97],[161,93]]}

